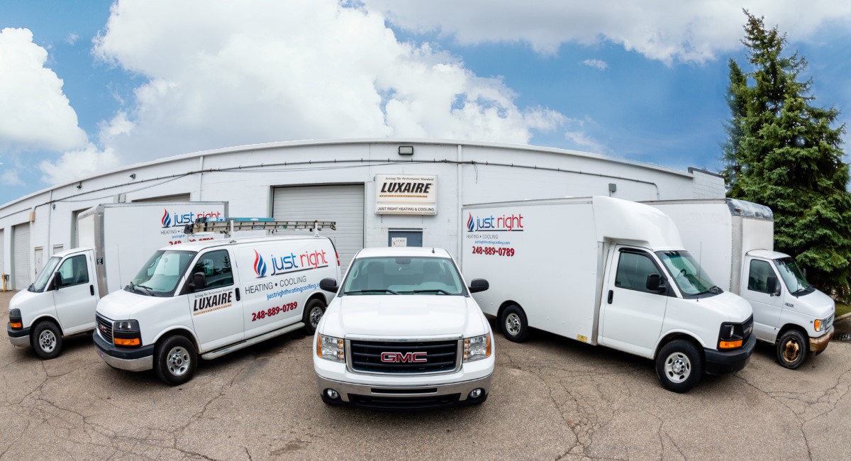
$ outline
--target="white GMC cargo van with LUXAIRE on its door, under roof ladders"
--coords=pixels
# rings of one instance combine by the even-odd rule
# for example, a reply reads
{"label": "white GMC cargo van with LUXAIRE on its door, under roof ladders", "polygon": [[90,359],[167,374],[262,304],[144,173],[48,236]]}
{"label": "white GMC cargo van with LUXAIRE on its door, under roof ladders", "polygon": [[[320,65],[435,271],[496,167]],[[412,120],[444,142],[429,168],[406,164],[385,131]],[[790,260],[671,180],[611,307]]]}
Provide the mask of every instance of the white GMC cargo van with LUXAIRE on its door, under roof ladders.
{"label": "white GMC cargo van with LUXAIRE on its door, under roof ladders", "polygon": [[332,297],[319,288],[325,278],[340,279],[340,262],[323,236],[162,248],[127,287],[100,299],[94,344],[111,367],[153,368],[166,384],[182,384],[198,356],[214,359],[301,327],[312,334]]}

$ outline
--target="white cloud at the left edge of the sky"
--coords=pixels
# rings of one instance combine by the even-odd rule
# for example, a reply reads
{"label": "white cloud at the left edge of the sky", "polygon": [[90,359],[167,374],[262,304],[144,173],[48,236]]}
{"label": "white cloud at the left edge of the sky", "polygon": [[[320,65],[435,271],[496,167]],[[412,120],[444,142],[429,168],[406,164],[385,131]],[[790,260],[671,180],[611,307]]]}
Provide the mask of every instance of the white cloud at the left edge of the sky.
{"label": "white cloud at the left edge of the sky", "polygon": [[47,59],[28,29],[0,31],[0,151],[63,151],[85,143],[62,80],[44,67]]}

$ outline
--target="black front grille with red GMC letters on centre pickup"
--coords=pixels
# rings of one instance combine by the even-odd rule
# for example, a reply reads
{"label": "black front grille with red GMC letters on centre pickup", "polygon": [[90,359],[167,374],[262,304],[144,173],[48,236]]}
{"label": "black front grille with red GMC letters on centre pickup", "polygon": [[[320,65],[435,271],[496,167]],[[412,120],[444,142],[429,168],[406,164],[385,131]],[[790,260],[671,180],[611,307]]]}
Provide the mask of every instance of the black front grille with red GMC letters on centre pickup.
{"label": "black front grille with red GMC letters on centre pickup", "polygon": [[[458,366],[460,342],[354,341],[351,369],[366,373],[447,373]],[[382,360],[384,359],[384,360]]]}

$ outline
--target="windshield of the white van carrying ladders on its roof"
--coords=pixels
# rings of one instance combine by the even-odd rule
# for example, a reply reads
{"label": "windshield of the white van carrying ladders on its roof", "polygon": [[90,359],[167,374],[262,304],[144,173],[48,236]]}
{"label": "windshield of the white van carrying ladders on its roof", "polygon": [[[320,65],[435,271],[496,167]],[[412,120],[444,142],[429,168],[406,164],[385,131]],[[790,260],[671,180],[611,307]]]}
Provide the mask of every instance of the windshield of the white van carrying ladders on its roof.
{"label": "windshield of the white van carrying ladders on its roof", "polygon": [[146,296],[171,296],[195,254],[191,251],[157,251],[124,290]]}

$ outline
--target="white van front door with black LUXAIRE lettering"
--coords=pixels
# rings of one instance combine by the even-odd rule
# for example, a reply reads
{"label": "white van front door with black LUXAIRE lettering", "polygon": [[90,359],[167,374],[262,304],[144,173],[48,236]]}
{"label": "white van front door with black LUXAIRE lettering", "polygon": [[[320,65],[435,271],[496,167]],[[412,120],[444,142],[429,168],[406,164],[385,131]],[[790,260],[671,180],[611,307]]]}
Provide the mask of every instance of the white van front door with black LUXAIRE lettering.
{"label": "white van front door with black LUXAIRE lettering", "polygon": [[[199,254],[188,272],[184,293],[202,352],[244,338],[243,303],[237,296],[232,261],[230,250],[215,248]],[[190,283],[196,274],[203,274],[204,286],[193,289]]]}

